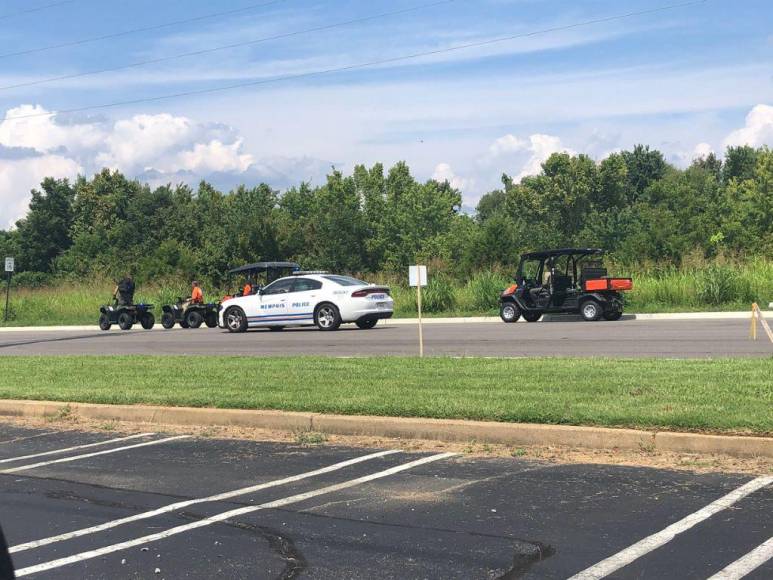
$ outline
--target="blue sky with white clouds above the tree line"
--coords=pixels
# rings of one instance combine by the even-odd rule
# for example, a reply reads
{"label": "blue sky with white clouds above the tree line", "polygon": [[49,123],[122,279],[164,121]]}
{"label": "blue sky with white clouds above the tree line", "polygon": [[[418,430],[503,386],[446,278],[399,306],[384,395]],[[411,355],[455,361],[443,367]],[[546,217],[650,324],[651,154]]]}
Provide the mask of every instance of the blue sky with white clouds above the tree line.
{"label": "blue sky with white clouds above the tree line", "polygon": [[[259,0],[46,0],[0,6],[0,227],[43,175],[102,166],[152,183],[222,187],[319,181],[331,165],[406,160],[448,178],[474,206],[499,176],[551,152],[601,159],[647,143],[677,164],[727,144],[773,141],[769,0],[692,6],[283,82],[296,75],[448,48],[669,4],[668,0],[279,0],[238,14],[8,56],[251,7]],[[264,0],[263,3],[268,3]],[[8,88],[137,61],[313,33],[162,63]],[[217,88],[235,90],[53,117],[45,112]]]}

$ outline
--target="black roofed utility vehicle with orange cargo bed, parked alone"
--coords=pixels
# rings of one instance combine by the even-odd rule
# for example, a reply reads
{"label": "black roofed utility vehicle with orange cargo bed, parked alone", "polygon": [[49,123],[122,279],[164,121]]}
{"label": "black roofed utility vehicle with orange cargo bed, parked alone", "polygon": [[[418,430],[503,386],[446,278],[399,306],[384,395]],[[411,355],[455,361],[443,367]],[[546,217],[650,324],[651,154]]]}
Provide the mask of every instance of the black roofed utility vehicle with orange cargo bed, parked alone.
{"label": "black roofed utility vehicle with orange cargo bed, parked alone", "polygon": [[599,248],[563,248],[523,254],[515,284],[499,297],[505,322],[537,322],[545,313],[580,314],[585,320],[619,320],[630,278],[607,275]]}

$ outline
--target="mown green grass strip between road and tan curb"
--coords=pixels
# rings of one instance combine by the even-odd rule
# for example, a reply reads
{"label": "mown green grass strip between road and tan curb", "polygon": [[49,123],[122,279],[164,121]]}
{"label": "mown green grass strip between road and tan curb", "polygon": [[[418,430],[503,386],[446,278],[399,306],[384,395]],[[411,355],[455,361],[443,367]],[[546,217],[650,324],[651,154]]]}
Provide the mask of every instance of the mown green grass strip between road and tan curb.
{"label": "mown green grass strip between road and tan curb", "polygon": [[773,433],[773,359],[3,357],[0,398]]}

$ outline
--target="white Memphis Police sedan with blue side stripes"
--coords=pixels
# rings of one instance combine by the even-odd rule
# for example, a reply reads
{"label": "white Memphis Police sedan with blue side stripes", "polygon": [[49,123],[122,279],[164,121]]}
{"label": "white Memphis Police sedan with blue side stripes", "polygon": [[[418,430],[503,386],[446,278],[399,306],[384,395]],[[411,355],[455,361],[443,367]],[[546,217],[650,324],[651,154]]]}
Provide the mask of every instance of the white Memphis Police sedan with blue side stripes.
{"label": "white Memphis Police sedan with blue side stripes", "polygon": [[373,328],[382,318],[391,318],[394,301],[387,286],[375,286],[350,276],[298,272],[280,278],[251,296],[223,302],[220,326],[230,332],[267,327],[312,326],[336,330],[354,322]]}

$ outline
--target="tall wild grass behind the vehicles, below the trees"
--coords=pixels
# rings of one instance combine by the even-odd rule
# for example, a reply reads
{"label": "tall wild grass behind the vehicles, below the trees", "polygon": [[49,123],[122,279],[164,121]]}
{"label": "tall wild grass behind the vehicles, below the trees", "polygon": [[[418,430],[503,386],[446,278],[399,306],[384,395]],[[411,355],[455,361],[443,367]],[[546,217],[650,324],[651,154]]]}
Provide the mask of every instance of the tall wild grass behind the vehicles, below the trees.
{"label": "tall wild grass behind the vehicles, below the trees", "polygon": [[[628,312],[690,312],[748,310],[754,301],[763,308],[773,302],[773,261],[752,260],[742,264],[697,264],[691,267],[642,267],[626,271],[614,267],[619,275],[632,276],[634,290],[627,293]],[[415,316],[415,291],[396,276],[364,276],[392,287],[395,315]],[[498,313],[497,299],[512,283],[504,272],[481,272],[465,283],[443,275],[430,277],[424,293],[428,316],[480,316]],[[108,282],[64,283],[56,287],[12,288],[12,326],[58,324],[96,324],[99,305],[112,292]],[[208,299],[218,299],[223,289],[209,290]],[[180,281],[139,284],[136,300],[160,306],[187,295],[190,288]],[[0,322],[0,325],[3,323]]]}

